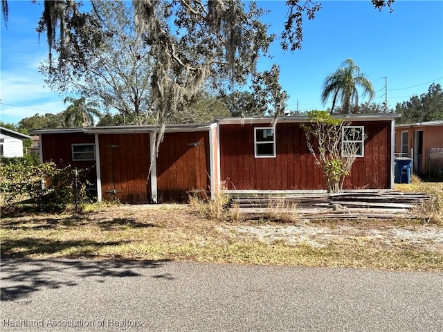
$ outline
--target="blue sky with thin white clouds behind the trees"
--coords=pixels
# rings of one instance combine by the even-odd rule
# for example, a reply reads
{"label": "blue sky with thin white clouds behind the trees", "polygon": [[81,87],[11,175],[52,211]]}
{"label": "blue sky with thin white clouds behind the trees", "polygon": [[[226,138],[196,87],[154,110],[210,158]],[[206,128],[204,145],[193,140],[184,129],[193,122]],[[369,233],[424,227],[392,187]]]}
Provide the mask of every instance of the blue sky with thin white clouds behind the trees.
{"label": "blue sky with thin white clouds behind the trees", "polygon": [[[47,56],[45,36],[39,41],[35,33],[42,3],[8,2],[8,28],[1,21],[0,120],[17,123],[35,113],[63,111],[62,98],[37,71]],[[331,102],[320,102],[323,80],[347,58],[371,80],[374,102],[385,100],[381,77],[388,77],[389,107],[425,93],[433,82],[443,85],[443,1],[395,1],[392,13],[375,10],[370,0],[318,2],[323,8],[316,19],[305,19],[302,49],[283,52],[275,42],[273,59],[260,61],[261,69],[280,65],[289,109],[330,107]],[[280,33],[287,15],[284,1],[257,3],[271,10],[266,21]]]}

